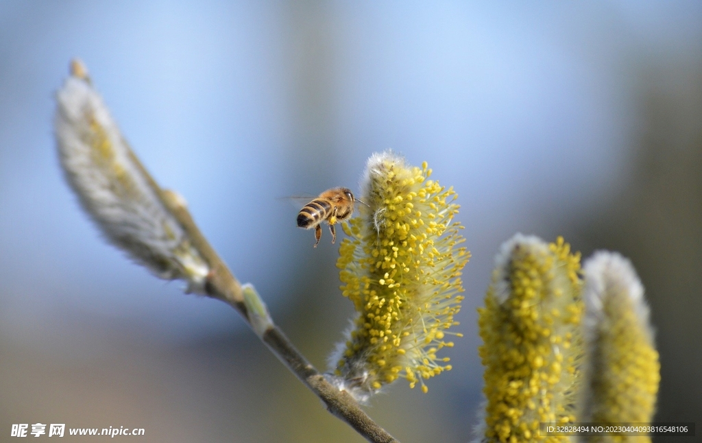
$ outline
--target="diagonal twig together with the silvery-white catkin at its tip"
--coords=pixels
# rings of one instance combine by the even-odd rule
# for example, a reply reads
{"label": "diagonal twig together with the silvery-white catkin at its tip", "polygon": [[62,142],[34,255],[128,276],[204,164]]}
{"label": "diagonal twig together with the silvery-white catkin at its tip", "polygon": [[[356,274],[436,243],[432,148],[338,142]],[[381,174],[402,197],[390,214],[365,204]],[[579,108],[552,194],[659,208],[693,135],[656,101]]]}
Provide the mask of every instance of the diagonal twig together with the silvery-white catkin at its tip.
{"label": "diagonal twig together with the silvery-white catkin at its tip", "polygon": [[56,100],[61,166],[105,238],[158,277],[182,279],[188,292],[231,305],[331,414],[369,442],[397,442],[300,355],[273,324],[253,286],[237,282],[192,220],[185,200],[162,190],[135,156],[78,60]]}

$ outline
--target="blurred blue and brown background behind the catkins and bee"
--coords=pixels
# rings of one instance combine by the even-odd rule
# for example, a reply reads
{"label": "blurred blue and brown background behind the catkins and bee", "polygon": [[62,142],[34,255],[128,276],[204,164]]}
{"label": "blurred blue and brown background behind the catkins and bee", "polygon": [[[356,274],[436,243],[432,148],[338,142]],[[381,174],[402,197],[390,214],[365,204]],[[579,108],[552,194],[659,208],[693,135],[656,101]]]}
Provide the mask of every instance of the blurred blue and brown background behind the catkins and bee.
{"label": "blurred blue and brown background behind the catkins and bee", "polygon": [[475,309],[515,232],[633,260],[661,353],[656,421],[702,423],[700,2],[4,0],[0,441],[37,422],[150,442],[362,441],[234,310],[102,241],[53,140],[73,57],[319,369],[352,306],[338,244],[324,232],[313,249],[281,197],[356,190],[386,149],[455,187],[473,258],[454,369],[367,408],[402,442],[470,439]]}

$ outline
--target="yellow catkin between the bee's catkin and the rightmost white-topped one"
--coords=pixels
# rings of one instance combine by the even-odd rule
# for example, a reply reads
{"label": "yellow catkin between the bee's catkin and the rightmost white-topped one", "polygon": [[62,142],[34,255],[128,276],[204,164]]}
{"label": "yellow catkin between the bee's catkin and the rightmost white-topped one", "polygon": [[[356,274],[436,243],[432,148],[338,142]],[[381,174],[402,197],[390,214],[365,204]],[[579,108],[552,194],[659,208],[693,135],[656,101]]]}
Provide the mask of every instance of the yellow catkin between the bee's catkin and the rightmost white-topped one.
{"label": "yellow catkin between the bee's catkin and the rightmost white-topped one", "polygon": [[539,423],[575,420],[581,353],[579,254],[559,238],[517,234],[503,245],[479,312],[486,442],[561,442]]}

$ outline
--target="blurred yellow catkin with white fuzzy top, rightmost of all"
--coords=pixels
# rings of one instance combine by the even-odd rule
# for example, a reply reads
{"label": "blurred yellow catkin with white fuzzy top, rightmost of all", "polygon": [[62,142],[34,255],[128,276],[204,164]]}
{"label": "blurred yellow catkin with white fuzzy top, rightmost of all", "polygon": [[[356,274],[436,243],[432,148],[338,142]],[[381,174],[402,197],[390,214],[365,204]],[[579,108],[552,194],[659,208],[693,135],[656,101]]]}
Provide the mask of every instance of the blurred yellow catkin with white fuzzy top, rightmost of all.
{"label": "blurred yellow catkin with white fuzzy top, rightmost of all", "polygon": [[[584,267],[585,381],[583,421],[650,423],[660,381],[658,352],[644,289],[633,266],[600,251]],[[650,442],[611,435],[593,442]]]}

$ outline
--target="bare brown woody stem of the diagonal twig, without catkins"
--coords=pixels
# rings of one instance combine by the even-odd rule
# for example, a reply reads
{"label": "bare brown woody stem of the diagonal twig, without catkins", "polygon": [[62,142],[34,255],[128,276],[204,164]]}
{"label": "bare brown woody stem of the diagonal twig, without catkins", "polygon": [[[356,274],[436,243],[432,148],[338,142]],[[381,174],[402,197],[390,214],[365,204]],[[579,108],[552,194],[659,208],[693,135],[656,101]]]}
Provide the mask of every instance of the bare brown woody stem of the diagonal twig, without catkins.
{"label": "bare brown woody stem of the diagonal twig, without catkins", "polygon": [[[145,168],[143,171],[148,176]],[[207,295],[231,305],[246,319],[246,323],[251,326],[241,284],[239,284],[229,267],[202,235],[187,207],[183,206],[183,204],[178,204],[177,199],[168,198],[166,192],[168,191],[161,192],[161,199],[178,218],[180,225],[183,226],[188,237],[190,237],[192,246],[201,253],[210,266],[211,272],[208,275],[206,284]],[[326,409],[331,414],[345,421],[369,442],[399,443],[397,439],[375,423],[351,395],[345,391],[338,390],[338,388],[326,381],[322,373],[319,373],[310,362],[307,362],[307,359],[300,354],[289,338],[277,326],[268,328],[260,335],[260,339],[307,388],[314,392],[314,395],[317,395],[324,402]]]}

